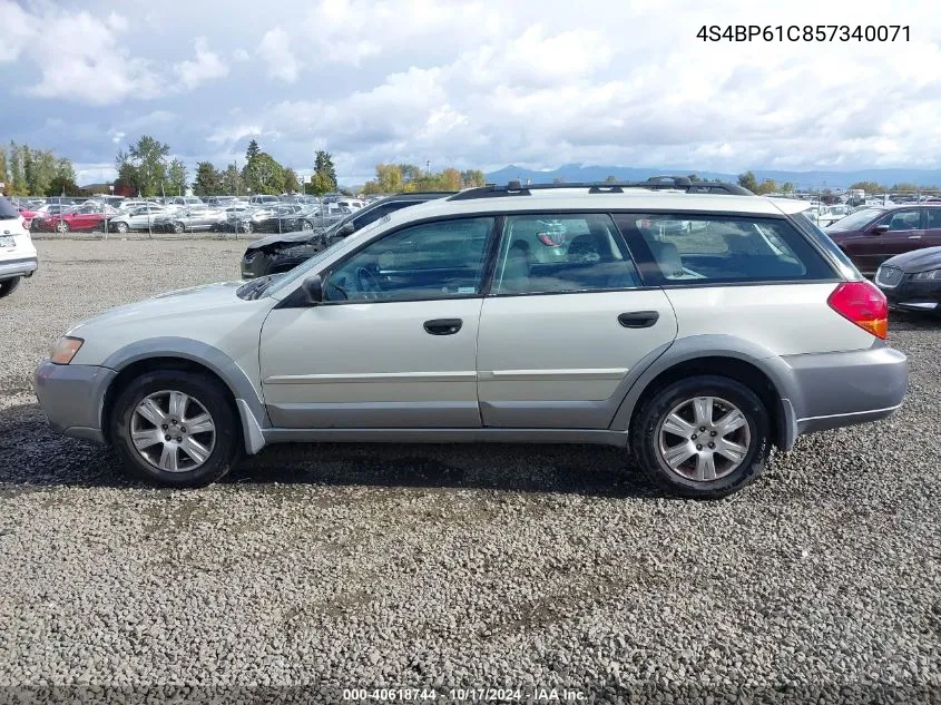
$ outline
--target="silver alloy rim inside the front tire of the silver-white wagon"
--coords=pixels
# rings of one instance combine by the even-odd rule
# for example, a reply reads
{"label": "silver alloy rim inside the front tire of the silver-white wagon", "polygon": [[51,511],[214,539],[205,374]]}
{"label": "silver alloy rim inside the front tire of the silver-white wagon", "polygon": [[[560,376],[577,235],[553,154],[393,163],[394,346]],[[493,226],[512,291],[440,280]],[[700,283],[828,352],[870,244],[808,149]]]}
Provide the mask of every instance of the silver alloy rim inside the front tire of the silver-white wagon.
{"label": "silver alloy rim inside the front tire of the silver-white wagon", "polygon": [[151,466],[166,472],[189,472],[212,456],[216,424],[195,396],[164,390],[148,394],[135,407],[130,440]]}

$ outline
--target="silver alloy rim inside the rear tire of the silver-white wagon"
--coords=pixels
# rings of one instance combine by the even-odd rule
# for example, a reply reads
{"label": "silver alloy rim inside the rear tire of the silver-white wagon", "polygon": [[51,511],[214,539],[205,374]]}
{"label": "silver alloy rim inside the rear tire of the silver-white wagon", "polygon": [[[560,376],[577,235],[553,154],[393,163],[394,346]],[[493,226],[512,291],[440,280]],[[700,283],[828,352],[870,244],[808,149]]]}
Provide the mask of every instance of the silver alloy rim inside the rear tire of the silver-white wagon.
{"label": "silver alloy rim inside the rear tire of the silver-white wagon", "polygon": [[687,399],[657,425],[660,464],[697,482],[710,482],[734,472],[751,445],[745,414],[718,396]]}

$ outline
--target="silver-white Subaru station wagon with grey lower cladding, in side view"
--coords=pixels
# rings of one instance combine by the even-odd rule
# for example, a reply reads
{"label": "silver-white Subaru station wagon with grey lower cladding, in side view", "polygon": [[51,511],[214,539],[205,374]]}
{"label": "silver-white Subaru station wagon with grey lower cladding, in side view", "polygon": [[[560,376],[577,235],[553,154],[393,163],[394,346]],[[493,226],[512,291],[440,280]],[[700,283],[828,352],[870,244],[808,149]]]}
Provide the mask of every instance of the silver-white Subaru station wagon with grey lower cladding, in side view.
{"label": "silver-white Subaru station wagon with grey lower cladding, in side view", "polygon": [[885,296],[805,204],[743,190],[467,189],[285,274],[76,325],[37,395],[66,434],[175,487],[285,441],[565,442],[722,497],[772,445],[885,418],[908,384]]}

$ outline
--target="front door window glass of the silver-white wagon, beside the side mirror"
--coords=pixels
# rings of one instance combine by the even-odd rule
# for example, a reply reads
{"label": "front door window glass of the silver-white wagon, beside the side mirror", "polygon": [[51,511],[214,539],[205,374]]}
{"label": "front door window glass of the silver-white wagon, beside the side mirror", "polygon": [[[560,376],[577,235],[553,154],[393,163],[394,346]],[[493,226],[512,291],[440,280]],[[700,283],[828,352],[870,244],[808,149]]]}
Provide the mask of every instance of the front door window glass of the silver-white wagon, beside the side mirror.
{"label": "front door window glass of the silver-white wagon, beside the side mirror", "polygon": [[439,221],[371,242],[331,272],[326,301],[420,301],[480,294],[493,218]]}

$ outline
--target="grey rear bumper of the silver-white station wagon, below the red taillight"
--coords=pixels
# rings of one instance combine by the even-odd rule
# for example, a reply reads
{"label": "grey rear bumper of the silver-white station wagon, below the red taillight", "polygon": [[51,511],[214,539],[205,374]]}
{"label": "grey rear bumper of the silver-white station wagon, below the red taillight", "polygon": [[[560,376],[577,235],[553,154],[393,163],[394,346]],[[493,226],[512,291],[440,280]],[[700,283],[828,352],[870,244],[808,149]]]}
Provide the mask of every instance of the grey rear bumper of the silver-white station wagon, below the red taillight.
{"label": "grey rear bumper of the silver-white station wagon, below the red taillight", "polygon": [[796,434],[878,421],[905,398],[909,362],[882,341],[868,350],[791,355]]}

